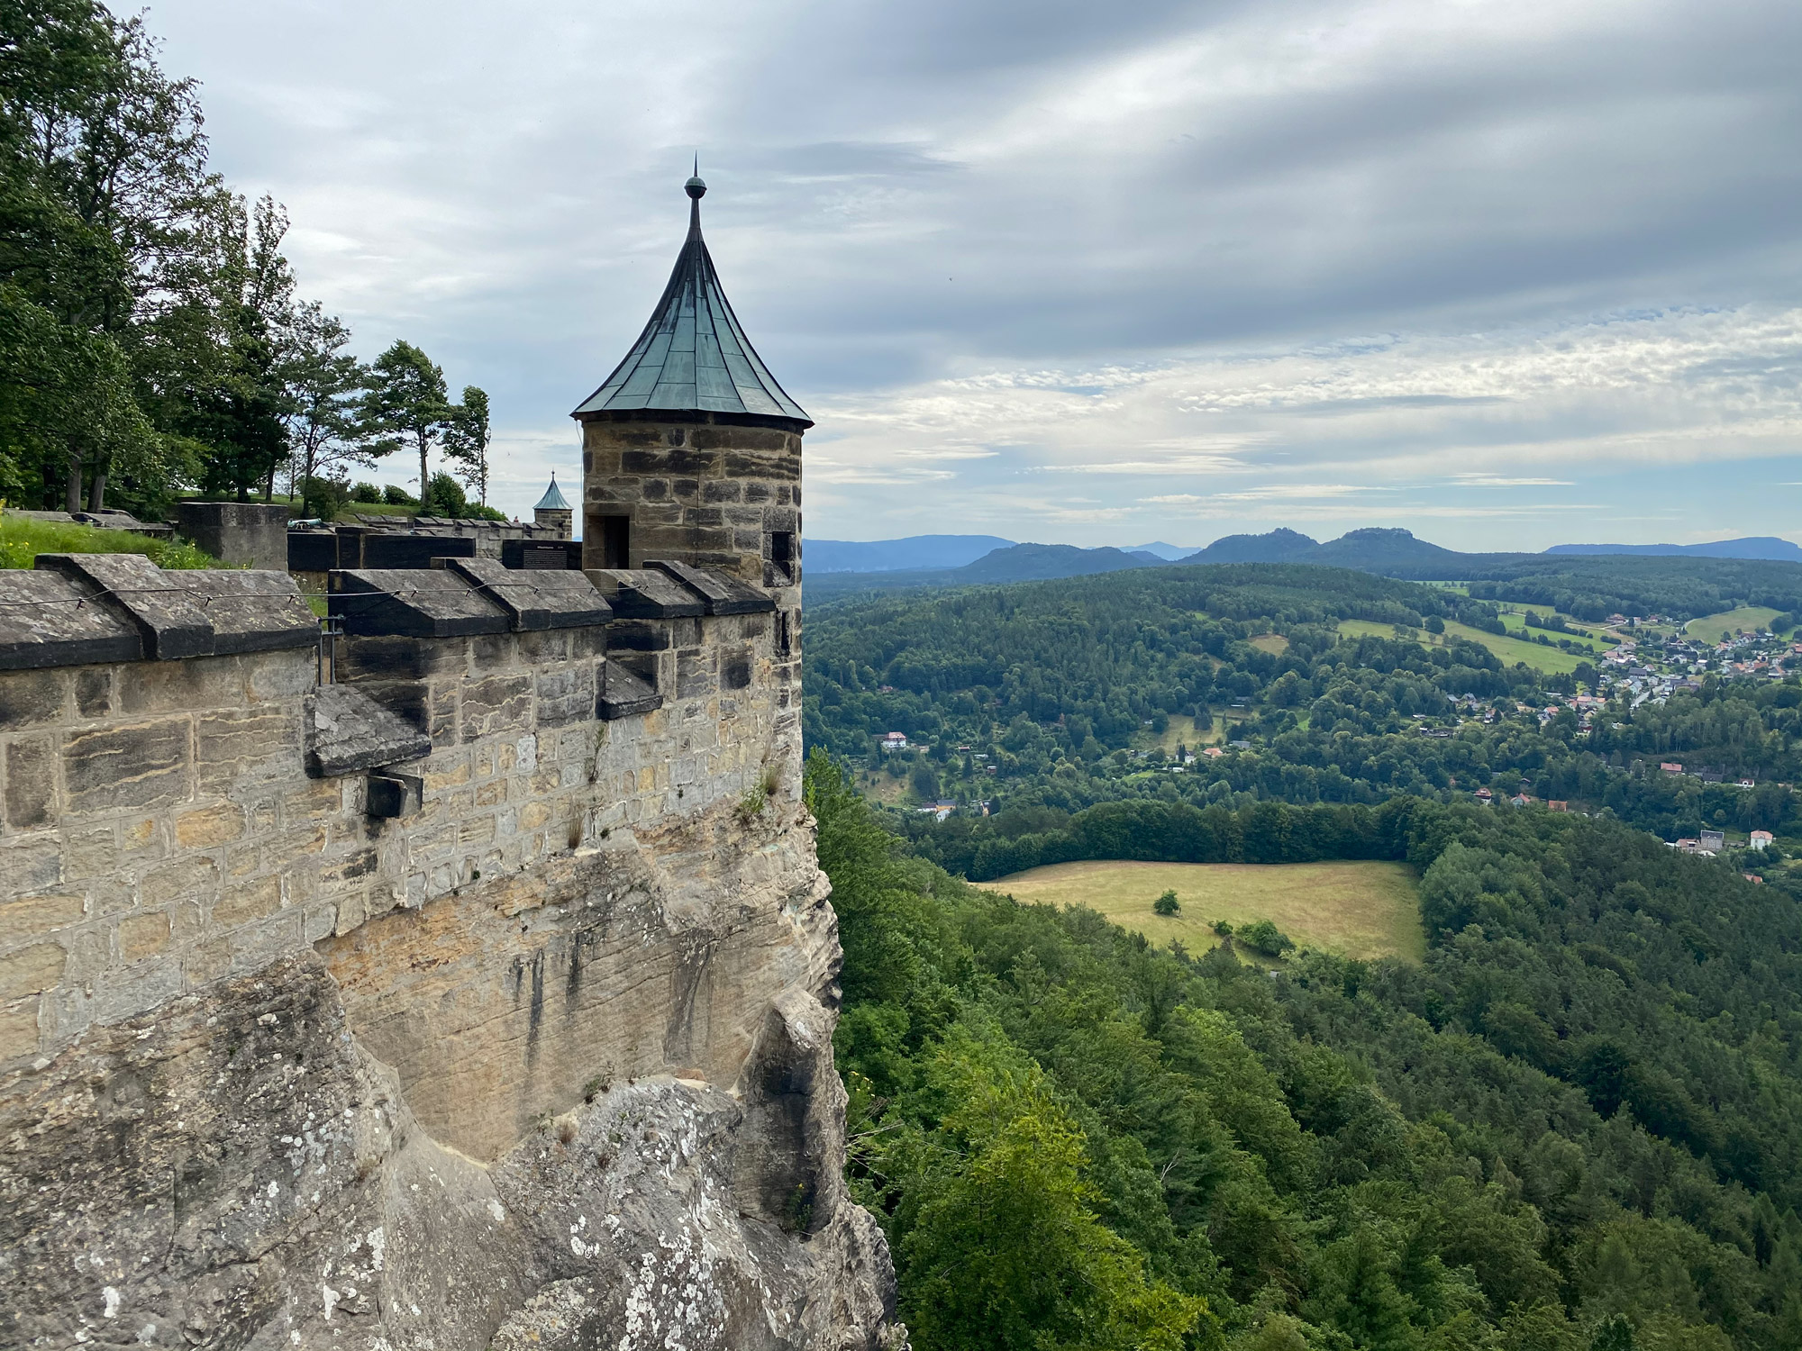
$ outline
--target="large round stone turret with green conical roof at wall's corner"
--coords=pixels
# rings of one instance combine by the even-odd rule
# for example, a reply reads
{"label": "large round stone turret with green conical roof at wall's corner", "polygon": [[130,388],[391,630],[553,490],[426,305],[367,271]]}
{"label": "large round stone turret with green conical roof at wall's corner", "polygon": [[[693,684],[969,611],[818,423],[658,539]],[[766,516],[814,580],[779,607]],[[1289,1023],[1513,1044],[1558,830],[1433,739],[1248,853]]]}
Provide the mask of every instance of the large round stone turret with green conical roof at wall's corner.
{"label": "large round stone turret with green conical roof at wall's corner", "polygon": [[701,240],[706,184],[643,333],[571,414],[582,423],[582,564],[674,560],[777,593],[778,648],[800,605],[800,438],[813,420],[751,348]]}

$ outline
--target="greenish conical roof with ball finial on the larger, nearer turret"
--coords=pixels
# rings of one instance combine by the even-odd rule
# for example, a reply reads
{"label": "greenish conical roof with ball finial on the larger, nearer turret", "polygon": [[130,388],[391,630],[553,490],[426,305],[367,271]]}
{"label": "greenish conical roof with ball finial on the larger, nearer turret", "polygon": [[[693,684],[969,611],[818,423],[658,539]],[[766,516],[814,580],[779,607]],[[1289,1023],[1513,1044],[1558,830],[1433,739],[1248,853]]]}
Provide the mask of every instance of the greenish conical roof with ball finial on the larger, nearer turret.
{"label": "greenish conical roof with ball finial on the larger, nearer turret", "polygon": [[571,414],[614,411],[753,413],[813,427],[744,337],[701,240],[701,195],[690,178],[688,240],[651,322],[607,382]]}

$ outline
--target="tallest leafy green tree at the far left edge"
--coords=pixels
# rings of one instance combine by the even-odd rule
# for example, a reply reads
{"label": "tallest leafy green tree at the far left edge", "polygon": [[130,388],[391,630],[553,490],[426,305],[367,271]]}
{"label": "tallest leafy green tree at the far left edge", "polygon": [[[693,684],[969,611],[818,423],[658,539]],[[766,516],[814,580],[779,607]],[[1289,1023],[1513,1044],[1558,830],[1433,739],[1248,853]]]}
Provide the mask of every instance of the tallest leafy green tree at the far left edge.
{"label": "tallest leafy green tree at the far left edge", "polygon": [[189,449],[155,429],[142,326],[193,285],[222,189],[193,81],[141,18],[0,4],[0,477],[101,506],[110,476],[166,492]]}

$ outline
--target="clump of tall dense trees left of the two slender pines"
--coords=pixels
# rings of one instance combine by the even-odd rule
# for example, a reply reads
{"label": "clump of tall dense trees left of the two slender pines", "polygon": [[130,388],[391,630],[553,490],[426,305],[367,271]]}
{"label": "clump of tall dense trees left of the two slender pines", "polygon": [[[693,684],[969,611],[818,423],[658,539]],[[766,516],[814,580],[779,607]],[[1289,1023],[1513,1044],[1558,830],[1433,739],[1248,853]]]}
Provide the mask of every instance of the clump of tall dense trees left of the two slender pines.
{"label": "clump of tall dense trees left of the two slender pines", "polygon": [[0,492],[166,513],[371,463],[350,331],[296,295],[285,211],[207,166],[142,16],[0,5]]}

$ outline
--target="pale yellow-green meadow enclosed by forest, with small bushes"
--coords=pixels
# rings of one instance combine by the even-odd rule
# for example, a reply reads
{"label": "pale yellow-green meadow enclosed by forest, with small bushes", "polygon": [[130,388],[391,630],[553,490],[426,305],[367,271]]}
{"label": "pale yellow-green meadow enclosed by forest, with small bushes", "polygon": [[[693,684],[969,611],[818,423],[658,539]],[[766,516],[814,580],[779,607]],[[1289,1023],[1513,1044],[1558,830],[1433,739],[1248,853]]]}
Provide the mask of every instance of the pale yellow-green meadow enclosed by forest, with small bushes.
{"label": "pale yellow-green meadow enclosed by forest, with small bushes", "polygon": [[[1301,948],[1344,957],[1420,960],[1425,951],[1418,881],[1402,863],[1056,863],[986,886],[1016,901],[1088,906],[1155,944],[1180,938],[1191,953],[1218,942],[1216,919],[1269,919]],[[1182,902],[1169,919],[1151,913],[1166,890]]]}

